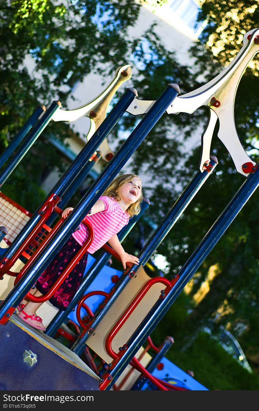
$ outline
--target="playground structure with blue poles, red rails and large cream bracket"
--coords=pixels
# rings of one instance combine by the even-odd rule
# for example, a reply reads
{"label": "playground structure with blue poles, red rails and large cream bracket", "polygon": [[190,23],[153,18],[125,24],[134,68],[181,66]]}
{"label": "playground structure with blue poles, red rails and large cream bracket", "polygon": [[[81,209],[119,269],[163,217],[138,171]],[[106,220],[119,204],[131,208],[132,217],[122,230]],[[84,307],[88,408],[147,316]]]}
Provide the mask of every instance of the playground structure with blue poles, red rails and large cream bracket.
{"label": "playground structure with blue poles, red rails and large cream bracket", "polygon": [[[17,340],[17,335],[19,335],[21,341],[29,345],[31,344],[31,346],[35,347],[34,349],[36,351],[43,347],[45,356],[48,350],[51,351],[51,355],[58,353],[59,363],[62,356],[66,358],[66,365],[70,363],[71,368],[74,367],[73,371],[74,374],[76,374],[76,381],[79,381],[77,386],[79,388],[68,389],[123,389],[123,385],[127,381],[129,383],[133,369],[136,370],[139,375],[143,375],[145,379],[148,379],[148,381],[158,389],[191,389],[188,388],[188,384],[186,384],[186,387],[177,387],[165,381],[165,379],[160,379],[157,374],[152,374],[154,369],[156,369],[157,372],[156,367],[160,363],[161,358],[163,358],[166,349],[168,349],[170,343],[172,343],[172,339],[168,337],[161,346],[161,349],[157,349],[150,340],[150,333],[157,326],[189,279],[191,279],[259,185],[259,170],[257,164],[252,162],[243,150],[236,133],[233,114],[234,98],[238,83],[248,63],[258,51],[259,30],[255,29],[246,33],[243,40],[243,47],[229,66],[216,76],[215,79],[198,90],[178,97],[178,85],[170,84],[156,101],[151,102],[138,100],[136,98],[136,90],[134,89],[126,90],[124,96],[118,101],[114,109],[100,122],[98,129],[91,135],[91,139],[89,139],[88,143],[64,176],[57,182],[44,203],[39,206],[34,215],[29,216],[30,218],[26,224],[11,241],[7,250],[2,253],[0,275],[16,277],[14,287],[0,305],[0,327],[1,333],[5,335],[4,344],[14,344]],[[88,224],[89,232],[91,231],[89,222],[84,216],[99,198],[99,193],[103,192],[111,180],[119,173],[161,116],[165,112],[168,114],[176,114],[178,112],[193,113],[193,111],[201,105],[209,107],[210,116],[207,127],[202,134],[202,152],[199,170],[141,250],[139,254],[140,265],[129,265],[120,278],[112,284],[109,292],[103,290],[89,291],[89,286],[93,284],[93,280],[98,275],[98,272],[105,266],[109,256],[113,255],[115,258],[118,257],[109,246],[105,245],[103,247],[105,252],[93,263],[90,269],[87,267],[82,286],[71,302],[71,309],[77,305],[77,321],[81,327],[81,329],[76,329],[77,332],[75,332],[75,335],[71,336],[66,327],[62,329],[61,325],[64,320],[64,317],[62,317],[62,315],[64,315],[63,313],[57,313],[49,323],[45,333],[37,332],[37,330],[27,326],[23,321],[18,319],[17,316],[15,316],[15,310],[25,296],[34,302],[42,302],[50,298],[50,293],[43,297],[34,297],[30,293],[30,289],[41,272],[53,259],[57,250],[64,245],[70,237],[70,234],[75,231],[83,219],[84,224]],[[58,207],[58,204],[66,189],[73,185],[80,173],[86,170],[93,153],[97,152],[98,148],[100,148],[111,129],[125,111],[133,115],[144,114],[144,116],[118,152],[107,159],[109,162],[104,171],[100,173],[68,218],[66,220],[60,219],[52,229],[49,231],[46,230],[46,227],[43,226],[44,224],[46,226],[46,222],[52,213],[56,212],[59,215],[61,214],[61,209]],[[53,107],[50,106],[50,111],[46,111],[46,113],[48,113],[48,120],[50,121],[57,112],[62,111],[59,108],[59,104],[55,103]],[[64,117],[61,116],[60,119],[64,121]],[[66,119],[68,119],[68,117],[66,117]],[[244,175],[246,180],[204,236],[188,261],[186,261],[181,270],[179,270],[178,275],[175,275],[172,281],[163,277],[151,279],[146,275],[143,268],[145,263],[150,259],[154,250],[157,249],[200,187],[207,180],[211,171],[216,167],[217,159],[210,156],[210,145],[217,120],[219,120],[218,136],[229,151],[236,170]],[[44,121],[47,121],[46,116]],[[44,125],[47,125],[45,122]],[[42,131],[42,127],[43,125],[38,127],[39,134]],[[6,175],[7,173],[5,173],[5,178],[0,179],[1,185],[7,178]],[[5,226],[3,222],[1,222],[1,225]],[[35,237],[36,235],[39,236],[42,228],[48,232],[45,232],[45,238],[39,243],[39,241],[35,240]],[[126,234],[126,232],[121,233],[121,241]],[[91,238],[89,237],[89,242],[90,241]],[[27,256],[27,261],[18,273],[14,270],[12,271],[11,269],[19,262],[20,257],[26,257],[25,254],[28,254],[27,249],[31,243],[34,244],[35,251],[32,252],[29,257]],[[46,247],[47,244],[48,247]],[[62,272],[62,278],[60,278],[59,284],[61,284],[62,280],[68,275],[68,270],[73,269],[73,264],[76,264],[78,259],[80,259],[80,255],[84,253],[84,250],[88,246],[89,243],[84,245],[75,261],[70,264],[70,267],[66,268],[65,272]],[[54,289],[51,291],[52,295],[59,284],[54,285]],[[84,295],[86,291],[88,292]],[[94,295],[104,297],[98,308],[90,307],[90,303],[86,305],[86,300]],[[86,318],[81,317],[80,313],[82,309],[86,310]],[[68,313],[66,313],[66,315],[67,314]],[[17,331],[16,338],[12,337],[14,329]],[[54,339],[58,330],[63,335],[66,333],[67,337],[70,338],[70,342],[72,343],[70,349],[65,349],[62,347],[62,344],[58,344],[57,340]],[[8,338],[7,334],[9,334]],[[149,361],[143,364],[147,349],[147,347],[143,348],[143,345],[146,342],[148,342],[148,349],[152,347],[157,355],[154,356],[153,359],[149,358]],[[39,345],[41,346],[40,348]],[[98,359],[101,368],[98,368],[94,361],[92,361],[93,356],[91,356],[90,349],[95,353],[95,358]],[[85,350],[92,368],[87,367],[80,359],[80,356]],[[19,347],[19,353],[22,356],[23,346]],[[36,360],[35,354],[30,349],[27,350],[25,355],[23,354],[23,358],[27,358],[27,362],[32,363],[30,364],[32,370],[33,367],[35,368],[35,373],[31,371],[30,374],[34,381],[33,387],[36,389],[37,379],[40,379],[42,376],[40,369],[38,369],[37,377],[36,362],[34,361]],[[9,363],[12,361],[11,358],[5,360],[8,360]],[[164,358],[163,362],[166,362]],[[129,366],[132,368],[128,371]],[[45,367],[43,368],[45,369]],[[59,364],[59,367],[64,367],[64,364]],[[82,377],[82,371],[85,379]],[[130,374],[127,379],[125,379],[125,373]],[[55,375],[51,376],[51,381],[55,378]],[[32,383],[32,380],[28,379],[29,387],[30,383]],[[64,386],[61,389],[66,389],[64,388],[66,387],[66,383],[67,381],[64,381]],[[73,381],[73,383],[76,385],[75,381]],[[133,382],[131,380],[131,383],[133,385],[127,385],[127,389],[143,389],[146,381],[140,376],[140,380],[137,379]],[[9,387],[9,389],[11,388]],[[23,389],[25,389],[24,385]],[[26,389],[30,388],[27,386]],[[42,389],[42,385],[40,389]]]}

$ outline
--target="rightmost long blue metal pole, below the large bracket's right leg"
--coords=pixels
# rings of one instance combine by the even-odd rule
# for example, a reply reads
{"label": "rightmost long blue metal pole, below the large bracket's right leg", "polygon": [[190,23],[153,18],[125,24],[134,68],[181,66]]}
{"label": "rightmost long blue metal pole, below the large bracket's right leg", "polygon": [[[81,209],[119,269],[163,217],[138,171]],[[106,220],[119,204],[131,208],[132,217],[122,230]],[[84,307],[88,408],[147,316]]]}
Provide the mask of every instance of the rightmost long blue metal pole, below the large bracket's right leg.
{"label": "rightmost long blue metal pole, below the large bracket's right leg", "polygon": [[[159,298],[159,301],[155,303],[154,307],[145,317],[145,320],[142,321],[138,329],[129,339],[129,342],[127,344],[128,349],[125,352],[125,355],[120,358],[114,369],[112,369],[110,372],[111,376],[113,377],[112,383],[116,381],[118,376],[121,374],[121,372],[123,372],[129,361],[131,361],[131,359],[135,355],[139,346],[141,346],[145,342],[145,340],[157,326],[159,321],[162,319],[164,314],[166,314],[168,309],[176,300],[177,296],[179,296],[191,277],[198,270],[202,262],[211,252],[218,240],[223,236],[229,225],[238,215],[248,199],[250,199],[258,186],[259,167],[257,164],[257,170],[248,176],[247,180],[245,180],[243,185],[239,188],[238,192],[228,203],[225,210],[223,210],[211,229],[209,229],[191,257],[181,268],[178,273],[179,279],[169,291],[167,296],[165,296],[164,298]],[[109,389],[110,387],[107,388]]]}

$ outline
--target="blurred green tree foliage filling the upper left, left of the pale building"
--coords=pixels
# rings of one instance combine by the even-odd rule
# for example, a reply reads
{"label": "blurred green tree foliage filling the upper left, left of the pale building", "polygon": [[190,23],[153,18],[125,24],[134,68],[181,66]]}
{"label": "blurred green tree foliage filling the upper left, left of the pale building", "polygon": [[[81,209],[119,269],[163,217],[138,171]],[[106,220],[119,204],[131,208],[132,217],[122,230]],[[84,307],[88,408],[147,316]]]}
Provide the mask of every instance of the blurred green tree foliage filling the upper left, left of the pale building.
{"label": "blurred green tree foliage filling the upper left, left of the pale building", "polygon": [[[136,40],[127,35],[129,28],[136,24],[140,7],[129,0],[80,0],[57,4],[51,0],[0,1],[1,151],[16,136],[37,104],[48,107],[52,101],[59,100],[62,108],[67,108],[67,98],[77,81],[82,81],[90,72],[114,73],[118,66],[131,61],[132,56],[141,62],[134,73],[142,79],[137,84],[140,91],[150,90],[151,95],[152,90],[154,95],[160,94],[164,85],[154,82],[154,76],[159,75],[166,82],[163,67],[177,65],[174,55],[160,44],[154,27],[146,33],[146,41],[150,44],[148,58],[142,48],[144,37]],[[30,71],[24,64],[28,59]],[[146,82],[143,77],[147,72],[150,76]],[[36,166],[35,189],[53,167],[63,173],[67,164],[49,143],[48,136],[54,135],[64,141],[71,134],[67,124],[51,122],[34,144],[33,154],[27,154],[18,166],[15,180],[19,178],[21,185],[30,185],[23,176],[32,175]],[[39,162],[42,164],[37,166]],[[9,194],[13,182],[11,175],[3,186],[5,194]],[[42,197],[42,193],[38,194],[30,204],[26,201],[23,206],[29,205],[33,212],[38,206],[37,200]]]}

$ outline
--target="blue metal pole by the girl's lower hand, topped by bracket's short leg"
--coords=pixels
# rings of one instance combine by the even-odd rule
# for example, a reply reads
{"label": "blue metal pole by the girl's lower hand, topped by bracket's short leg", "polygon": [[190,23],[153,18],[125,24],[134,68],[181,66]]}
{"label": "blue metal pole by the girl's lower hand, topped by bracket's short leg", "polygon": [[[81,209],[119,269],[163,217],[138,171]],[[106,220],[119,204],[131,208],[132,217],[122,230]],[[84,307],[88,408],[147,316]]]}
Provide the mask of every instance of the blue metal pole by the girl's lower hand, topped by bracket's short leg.
{"label": "blue metal pole by the girl's lower hand, topped by bracket's short leg", "polygon": [[[182,194],[179,196],[178,200],[175,202],[173,207],[169,210],[167,215],[165,216],[163,222],[160,224],[160,226],[157,227],[157,229],[154,231],[148,242],[145,244],[143,249],[141,250],[141,253],[139,255],[139,263],[142,265],[145,265],[145,263],[150,259],[151,255],[153,254],[154,250],[157,249],[159,244],[163,241],[167,233],[170,231],[170,229],[173,227],[177,219],[179,219],[180,215],[184,212],[185,208],[187,205],[191,202],[195,194],[198,192],[200,187],[204,184],[204,182],[207,180],[209,177],[210,172],[216,167],[216,164],[218,163],[216,157],[211,156],[209,167],[207,170],[204,170],[202,173],[198,171],[196,175],[194,176],[193,180],[189,182],[187,187],[184,189]],[[211,170],[209,170],[211,168]],[[105,316],[105,314],[108,312],[110,309],[111,305],[113,305],[114,301],[118,297],[118,295],[123,291],[129,280],[132,278],[136,270],[138,269],[138,266],[135,264],[132,266],[132,275],[125,275],[121,277],[116,284],[116,291],[114,291],[113,295],[107,301],[105,304],[105,307],[103,307],[102,311],[98,315],[97,318],[93,321],[91,328],[96,328],[96,326],[100,323],[102,318]],[[72,347],[72,350],[75,351],[75,353],[81,353],[84,343],[86,340],[90,337],[89,334],[85,334],[80,341],[78,341],[78,345],[76,346],[75,344]]]}

